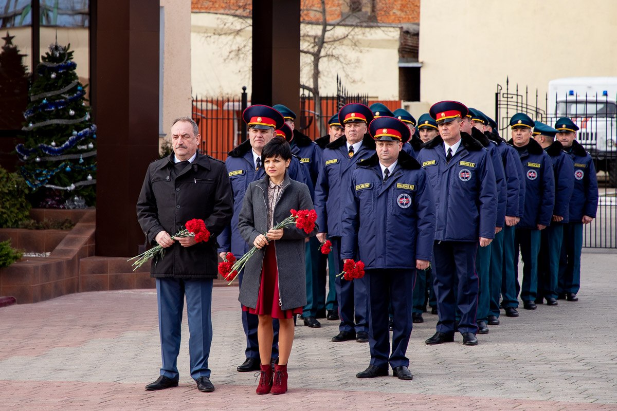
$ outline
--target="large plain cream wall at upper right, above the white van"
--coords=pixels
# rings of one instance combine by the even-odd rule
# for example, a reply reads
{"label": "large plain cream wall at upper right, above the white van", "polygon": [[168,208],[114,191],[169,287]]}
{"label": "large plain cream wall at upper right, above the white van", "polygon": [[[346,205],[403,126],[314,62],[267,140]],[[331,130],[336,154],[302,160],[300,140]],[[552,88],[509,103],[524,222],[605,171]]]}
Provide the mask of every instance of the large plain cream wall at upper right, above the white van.
{"label": "large plain cream wall at upper right, above the white van", "polygon": [[[495,113],[497,83],[541,96],[549,81],[617,73],[617,2],[422,0],[420,98]],[[544,108],[544,102],[541,105]]]}

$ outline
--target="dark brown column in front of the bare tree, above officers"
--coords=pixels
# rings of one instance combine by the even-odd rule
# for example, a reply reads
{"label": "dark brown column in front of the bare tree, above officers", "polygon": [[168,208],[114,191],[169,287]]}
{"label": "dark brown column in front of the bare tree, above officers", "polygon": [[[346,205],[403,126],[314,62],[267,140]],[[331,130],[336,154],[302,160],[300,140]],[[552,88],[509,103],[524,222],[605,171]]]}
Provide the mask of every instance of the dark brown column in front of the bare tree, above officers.
{"label": "dark brown column in front of the bare tree, above officers", "polygon": [[251,104],[300,116],[300,0],[253,0]]}

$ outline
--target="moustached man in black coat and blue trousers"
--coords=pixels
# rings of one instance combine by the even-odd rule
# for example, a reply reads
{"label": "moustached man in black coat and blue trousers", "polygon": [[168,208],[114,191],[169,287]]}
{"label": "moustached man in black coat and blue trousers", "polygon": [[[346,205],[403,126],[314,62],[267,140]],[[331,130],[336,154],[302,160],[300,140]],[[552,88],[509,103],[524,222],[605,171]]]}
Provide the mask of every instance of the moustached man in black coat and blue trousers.
{"label": "moustached man in black coat and blue trousers", "polygon": [[[212,280],[217,277],[217,235],[229,224],[233,198],[225,163],[197,152],[201,140],[189,117],[173,122],[173,154],[149,166],[137,202],[139,225],[151,245],[165,249],[152,261],[156,279],[163,365],[148,391],[178,386],[176,360],[184,296],[189,325],[191,377],[202,392],[214,391],[208,357],[212,343]],[[173,238],[191,219],[202,219],[210,232],[207,242]]]}

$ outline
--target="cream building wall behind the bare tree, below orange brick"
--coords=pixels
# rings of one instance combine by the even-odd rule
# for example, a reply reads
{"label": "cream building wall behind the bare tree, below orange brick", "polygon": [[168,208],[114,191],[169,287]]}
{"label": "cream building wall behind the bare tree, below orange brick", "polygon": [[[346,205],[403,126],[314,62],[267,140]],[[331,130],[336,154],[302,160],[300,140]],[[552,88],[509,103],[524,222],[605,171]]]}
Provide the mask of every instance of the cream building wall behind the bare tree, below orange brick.
{"label": "cream building wall behind the bare tree, below orange brick", "polygon": [[[302,25],[303,33],[316,33],[319,25]],[[346,33],[339,28],[333,36]],[[222,35],[227,33],[227,35]],[[357,45],[357,46],[356,46]],[[384,100],[399,95],[399,28],[357,28],[352,38],[336,47],[339,59],[320,63],[322,95],[336,94],[336,75],[352,93],[367,93]],[[231,54],[230,54],[231,52]],[[193,95],[239,96],[242,86],[251,92],[251,20],[212,13],[191,15],[191,83]],[[312,66],[300,57],[300,82],[312,86]],[[300,92],[300,91],[298,91]]]}

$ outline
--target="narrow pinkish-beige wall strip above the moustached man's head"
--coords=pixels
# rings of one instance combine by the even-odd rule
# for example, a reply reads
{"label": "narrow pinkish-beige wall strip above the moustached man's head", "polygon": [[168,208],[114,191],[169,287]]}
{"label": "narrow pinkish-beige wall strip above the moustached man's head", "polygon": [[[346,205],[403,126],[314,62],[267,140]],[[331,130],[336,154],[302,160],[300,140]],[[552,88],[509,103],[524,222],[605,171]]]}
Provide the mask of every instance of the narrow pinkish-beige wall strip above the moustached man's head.
{"label": "narrow pinkish-beige wall strip above the moustached man's head", "polygon": [[160,0],[163,24],[163,78],[161,136],[169,134],[172,121],[191,116],[191,0]]}

